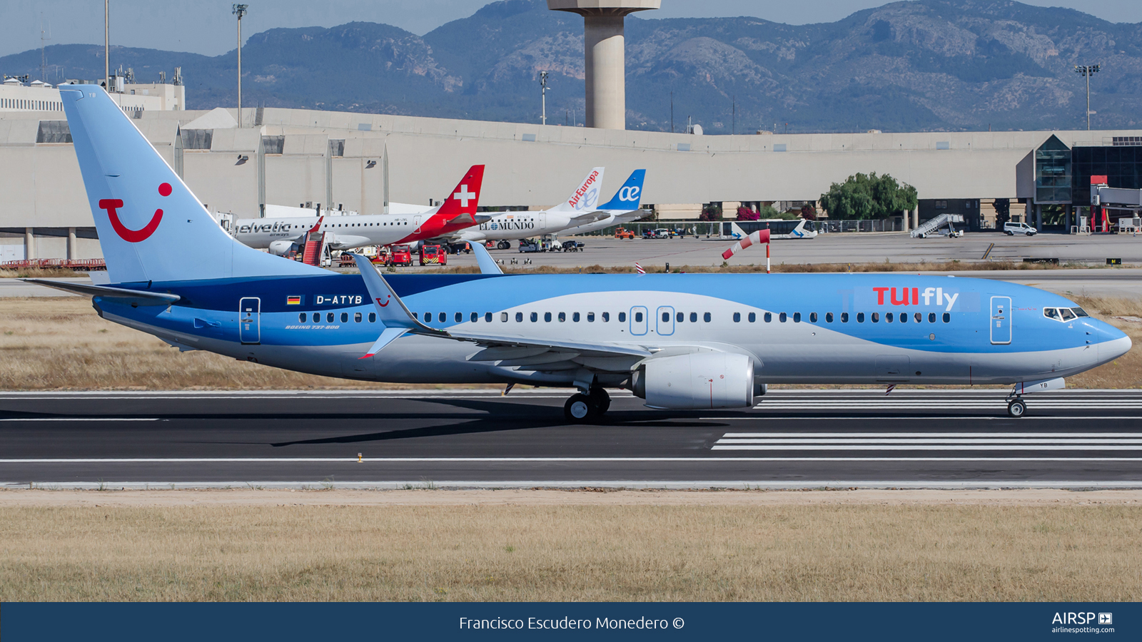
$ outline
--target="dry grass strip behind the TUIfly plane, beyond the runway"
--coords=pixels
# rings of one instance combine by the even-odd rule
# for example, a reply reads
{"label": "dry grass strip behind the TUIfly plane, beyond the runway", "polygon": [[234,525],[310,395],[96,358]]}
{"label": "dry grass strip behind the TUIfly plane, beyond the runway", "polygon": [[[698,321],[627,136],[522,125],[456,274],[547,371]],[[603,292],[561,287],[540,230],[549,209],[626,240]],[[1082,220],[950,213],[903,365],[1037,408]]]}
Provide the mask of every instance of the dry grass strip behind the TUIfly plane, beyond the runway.
{"label": "dry grass strip behind the TUIfly plane, beyond the runway", "polygon": [[[1142,300],[1076,299],[1142,345]],[[1070,387],[1142,387],[1142,350],[1068,379]],[[0,390],[408,388],[278,370],[163,342],[99,319],[83,297],[0,299]],[[902,386],[903,390],[906,386]]]}

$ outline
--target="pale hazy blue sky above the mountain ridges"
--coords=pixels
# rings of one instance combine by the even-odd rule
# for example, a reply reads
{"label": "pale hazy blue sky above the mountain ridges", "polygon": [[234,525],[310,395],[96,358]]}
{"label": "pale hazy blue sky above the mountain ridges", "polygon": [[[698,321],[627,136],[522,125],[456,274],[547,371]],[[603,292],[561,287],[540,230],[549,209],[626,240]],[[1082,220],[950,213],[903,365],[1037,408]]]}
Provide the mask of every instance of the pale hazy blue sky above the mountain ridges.
{"label": "pale hazy blue sky above the mountain ridges", "polygon": [[[1112,22],[1142,22],[1140,0],[1024,0],[1070,7]],[[387,23],[424,34],[471,16],[488,0],[248,0],[242,19],[248,37],[273,27],[333,26],[353,21]],[[646,17],[757,16],[789,24],[833,22],[886,0],[664,0]],[[193,51],[216,56],[234,48],[230,1],[111,0],[111,41],[127,47]],[[41,22],[48,43],[103,42],[99,0],[2,0],[0,56],[39,48]],[[50,61],[49,61],[50,62]],[[2,70],[0,70],[2,72]]]}

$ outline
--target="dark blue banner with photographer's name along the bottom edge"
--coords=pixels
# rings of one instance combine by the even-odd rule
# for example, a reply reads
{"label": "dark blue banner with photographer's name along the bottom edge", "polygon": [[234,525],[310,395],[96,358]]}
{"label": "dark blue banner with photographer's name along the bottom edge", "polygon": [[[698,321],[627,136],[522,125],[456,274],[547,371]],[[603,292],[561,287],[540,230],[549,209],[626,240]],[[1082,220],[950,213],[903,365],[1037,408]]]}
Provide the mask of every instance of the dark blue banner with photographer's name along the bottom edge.
{"label": "dark blue banner with photographer's name along the bottom edge", "polygon": [[1137,640],[1105,603],[5,603],[3,642]]}

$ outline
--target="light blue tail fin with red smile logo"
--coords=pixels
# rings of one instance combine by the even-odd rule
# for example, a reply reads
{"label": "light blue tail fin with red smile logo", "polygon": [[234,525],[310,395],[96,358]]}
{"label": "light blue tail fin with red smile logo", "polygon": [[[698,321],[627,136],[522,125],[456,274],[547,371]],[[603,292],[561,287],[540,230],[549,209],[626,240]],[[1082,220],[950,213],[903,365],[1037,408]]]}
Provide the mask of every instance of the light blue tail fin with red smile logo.
{"label": "light blue tail fin with red smile logo", "polygon": [[231,238],[103,88],[59,96],[112,282],[327,274]]}

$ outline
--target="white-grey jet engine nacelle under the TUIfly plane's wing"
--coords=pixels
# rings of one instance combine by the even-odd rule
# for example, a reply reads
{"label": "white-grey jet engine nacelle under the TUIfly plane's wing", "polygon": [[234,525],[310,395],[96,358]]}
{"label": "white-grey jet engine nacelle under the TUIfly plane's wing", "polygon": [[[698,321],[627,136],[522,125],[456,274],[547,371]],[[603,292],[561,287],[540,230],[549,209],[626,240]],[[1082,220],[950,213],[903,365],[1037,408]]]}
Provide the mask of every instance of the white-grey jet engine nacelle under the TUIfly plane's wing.
{"label": "white-grey jet engine nacelle under the TUIfly plane's wing", "polygon": [[754,404],[754,360],[724,352],[651,359],[632,384],[635,395],[651,408],[743,408]]}

